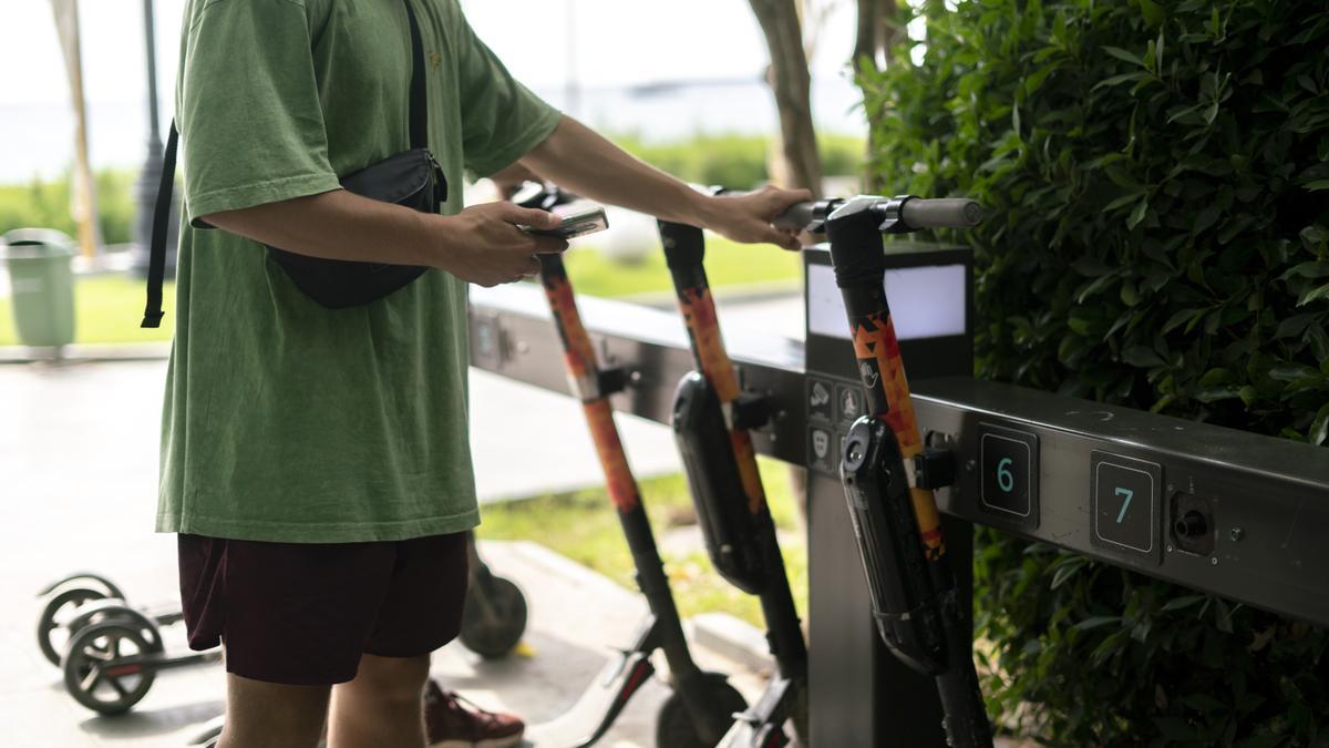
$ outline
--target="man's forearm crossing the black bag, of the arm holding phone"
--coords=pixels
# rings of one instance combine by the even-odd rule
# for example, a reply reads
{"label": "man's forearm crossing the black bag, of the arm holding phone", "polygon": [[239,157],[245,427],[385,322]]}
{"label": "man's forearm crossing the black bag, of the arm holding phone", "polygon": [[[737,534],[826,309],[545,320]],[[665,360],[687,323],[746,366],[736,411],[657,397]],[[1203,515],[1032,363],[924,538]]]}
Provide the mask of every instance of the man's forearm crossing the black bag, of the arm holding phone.
{"label": "man's forearm crossing the black bag, of the arm holding phone", "polygon": [[205,216],[218,229],[324,260],[439,265],[428,221],[443,220],[346,190]]}

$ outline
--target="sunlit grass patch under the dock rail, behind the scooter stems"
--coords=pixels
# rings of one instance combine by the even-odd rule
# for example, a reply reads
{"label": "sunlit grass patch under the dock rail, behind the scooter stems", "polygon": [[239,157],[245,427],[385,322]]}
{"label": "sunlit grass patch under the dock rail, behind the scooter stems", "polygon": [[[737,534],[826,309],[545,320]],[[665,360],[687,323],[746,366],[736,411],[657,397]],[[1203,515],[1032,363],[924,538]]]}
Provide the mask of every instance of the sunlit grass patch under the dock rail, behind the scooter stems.
{"label": "sunlit grass patch under the dock rail, behind the scooter stems", "polygon": [[[800,618],[808,610],[808,554],[795,516],[793,496],[789,490],[789,470],[781,462],[759,458],[771,514],[776,526],[788,532],[781,544],[784,566],[793,588]],[[700,544],[700,528],[687,482],[682,475],[650,478],[641,482],[642,502],[651,518],[657,544],[664,559],[683,618],[707,611],[732,614],[758,628],[764,628],[758,599],[740,592],[715,572]],[[623,587],[635,591],[633,559],[627,542],[619,531],[618,515],[603,488],[585,488],[567,494],[549,494],[530,499],[486,504],[481,507],[482,523],[477,530],[481,539],[536,540],[550,550],[585,564]],[[682,528],[698,540],[699,550],[674,552],[666,534]]]}

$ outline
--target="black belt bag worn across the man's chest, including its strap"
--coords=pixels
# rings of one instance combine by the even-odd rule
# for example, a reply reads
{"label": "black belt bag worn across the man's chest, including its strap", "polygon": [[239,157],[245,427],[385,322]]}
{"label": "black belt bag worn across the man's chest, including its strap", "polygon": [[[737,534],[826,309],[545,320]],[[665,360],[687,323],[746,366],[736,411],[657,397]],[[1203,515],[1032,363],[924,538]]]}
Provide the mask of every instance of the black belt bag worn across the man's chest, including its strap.
{"label": "black belt bag worn across the man's chest, including its strap", "polygon": [[[411,24],[411,150],[389,156],[342,177],[339,181],[347,192],[361,197],[404,205],[421,213],[437,213],[443,202],[448,200],[448,182],[427,145],[429,130],[420,27],[409,0],[403,0],[403,5],[405,5],[407,20]],[[171,122],[163,154],[162,181],[157,189],[157,205],[153,214],[144,327],[157,327],[162,318],[166,222],[170,214],[170,194],[175,186],[178,140],[179,133],[175,124]],[[267,250],[300,291],[327,309],[363,306],[377,301],[428,270],[428,268],[419,265],[324,260],[275,246],[267,246]]]}

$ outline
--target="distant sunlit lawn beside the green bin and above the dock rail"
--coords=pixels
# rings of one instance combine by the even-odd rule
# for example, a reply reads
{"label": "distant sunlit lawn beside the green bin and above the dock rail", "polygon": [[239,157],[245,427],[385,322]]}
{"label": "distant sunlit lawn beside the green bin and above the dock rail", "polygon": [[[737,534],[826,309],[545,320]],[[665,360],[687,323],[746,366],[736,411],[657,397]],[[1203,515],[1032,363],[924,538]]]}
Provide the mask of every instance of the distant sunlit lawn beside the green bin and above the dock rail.
{"label": "distant sunlit lawn beside the green bin and above the dock rail", "polygon": [[[771,246],[746,246],[711,238],[706,272],[712,286],[752,282],[788,281],[793,283],[801,270],[796,253]],[[668,291],[668,269],[663,253],[654,252],[635,265],[605,258],[590,249],[578,248],[567,256],[567,274],[577,293],[599,297],[625,297],[650,291]],[[166,319],[155,330],[138,326],[144,311],[142,280],[133,276],[80,276],[74,285],[74,342],[137,343],[169,341],[175,311],[175,285],[163,289]],[[19,345],[9,299],[0,298],[0,346]]]}

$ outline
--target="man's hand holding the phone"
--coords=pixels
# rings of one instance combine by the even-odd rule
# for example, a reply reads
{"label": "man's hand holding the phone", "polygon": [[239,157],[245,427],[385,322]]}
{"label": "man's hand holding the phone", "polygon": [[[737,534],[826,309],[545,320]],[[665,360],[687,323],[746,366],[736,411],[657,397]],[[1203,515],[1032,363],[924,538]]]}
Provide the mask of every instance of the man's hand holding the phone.
{"label": "man's hand holding the phone", "polygon": [[567,249],[567,242],[532,236],[517,226],[554,229],[561,222],[553,213],[510,202],[466,208],[439,221],[448,234],[440,237],[448,252],[439,265],[462,281],[485,287],[530,278],[540,273],[537,254],[558,254]]}

